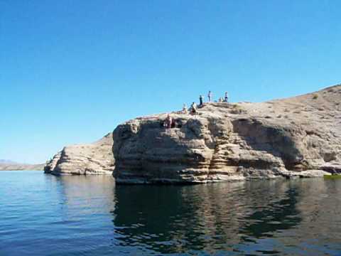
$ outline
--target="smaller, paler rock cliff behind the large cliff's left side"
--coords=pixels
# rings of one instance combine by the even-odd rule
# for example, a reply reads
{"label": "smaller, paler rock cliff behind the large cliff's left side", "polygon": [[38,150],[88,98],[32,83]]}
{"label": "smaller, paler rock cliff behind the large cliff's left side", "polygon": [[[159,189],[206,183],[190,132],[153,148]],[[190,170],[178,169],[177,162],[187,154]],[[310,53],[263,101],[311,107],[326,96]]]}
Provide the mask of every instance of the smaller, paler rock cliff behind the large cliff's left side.
{"label": "smaller, paler rock cliff behind the large cliff's left side", "polygon": [[65,146],[45,165],[45,174],[112,174],[114,170],[112,145],[112,133],[109,133],[93,144]]}

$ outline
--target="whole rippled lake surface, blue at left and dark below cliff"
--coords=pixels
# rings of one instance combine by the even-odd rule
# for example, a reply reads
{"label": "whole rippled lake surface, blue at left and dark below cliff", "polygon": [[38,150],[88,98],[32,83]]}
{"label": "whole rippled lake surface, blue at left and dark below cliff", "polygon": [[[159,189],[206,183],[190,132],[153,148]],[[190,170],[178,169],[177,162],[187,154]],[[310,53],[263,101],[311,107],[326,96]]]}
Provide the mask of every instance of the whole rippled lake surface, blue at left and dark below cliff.
{"label": "whole rippled lake surface, blue at left and dark below cliff", "polygon": [[115,186],[0,171],[0,255],[341,255],[341,180]]}

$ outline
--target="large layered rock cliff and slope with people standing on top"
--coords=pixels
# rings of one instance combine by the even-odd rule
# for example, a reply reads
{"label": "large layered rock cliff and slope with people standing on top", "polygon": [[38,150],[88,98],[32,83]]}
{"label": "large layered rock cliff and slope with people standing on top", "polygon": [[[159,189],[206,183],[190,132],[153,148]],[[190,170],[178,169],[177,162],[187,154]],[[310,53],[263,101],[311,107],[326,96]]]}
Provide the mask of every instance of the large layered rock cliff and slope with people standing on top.
{"label": "large layered rock cliff and slope with people standing on top", "polygon": [[140,117],[114,130],[117,183],[321,176],[341,171],[341,86],[262,103],[210,103],[196,116]]}

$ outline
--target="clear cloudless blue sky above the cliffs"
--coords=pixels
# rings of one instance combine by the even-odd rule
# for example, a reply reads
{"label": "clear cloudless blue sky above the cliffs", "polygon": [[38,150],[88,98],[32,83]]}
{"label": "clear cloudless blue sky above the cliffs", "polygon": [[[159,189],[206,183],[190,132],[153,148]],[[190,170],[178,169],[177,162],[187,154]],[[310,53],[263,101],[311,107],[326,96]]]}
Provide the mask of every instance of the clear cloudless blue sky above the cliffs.
{"label": "clear cloudless blue sky above the cliffs", "polygon": [[341,1],[0,0],[0,159],[39,163],[198,95],[341,82]]}

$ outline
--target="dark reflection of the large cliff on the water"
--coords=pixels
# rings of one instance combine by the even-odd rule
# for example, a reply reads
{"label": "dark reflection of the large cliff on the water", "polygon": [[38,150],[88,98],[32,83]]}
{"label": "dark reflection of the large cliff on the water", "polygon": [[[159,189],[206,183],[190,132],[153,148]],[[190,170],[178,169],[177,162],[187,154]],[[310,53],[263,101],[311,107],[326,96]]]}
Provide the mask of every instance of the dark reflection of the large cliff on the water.
{"label": "dark reflection of the large cliff on the water", "polygon": [[198,186],[117,186],[119,245],[158,252],[234,250],[247,238],[292,228],[301,218],[286,181]]}

